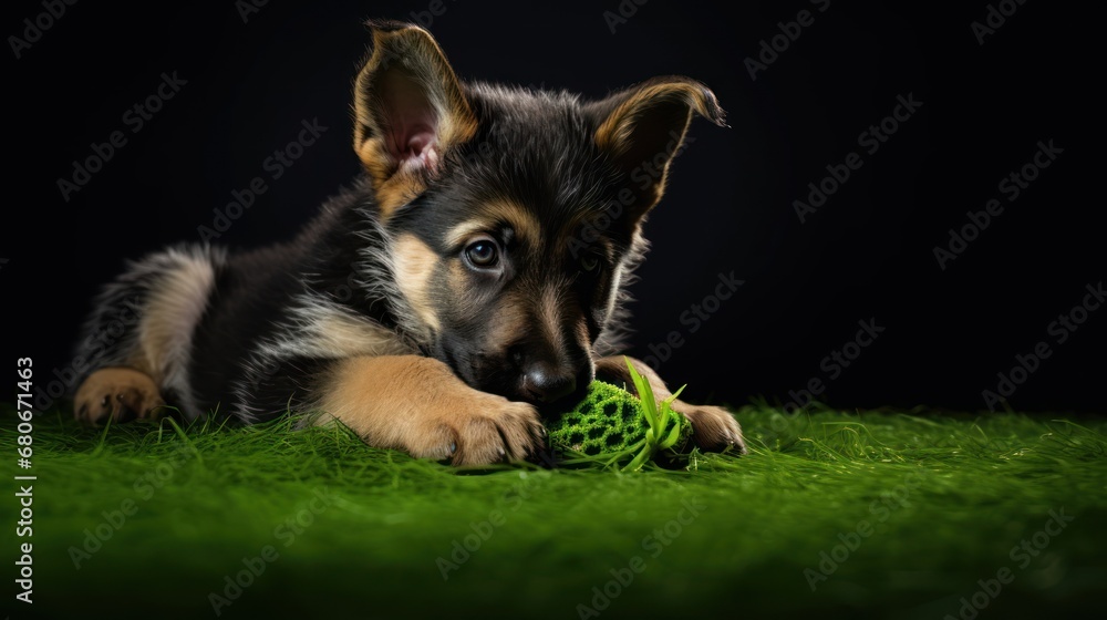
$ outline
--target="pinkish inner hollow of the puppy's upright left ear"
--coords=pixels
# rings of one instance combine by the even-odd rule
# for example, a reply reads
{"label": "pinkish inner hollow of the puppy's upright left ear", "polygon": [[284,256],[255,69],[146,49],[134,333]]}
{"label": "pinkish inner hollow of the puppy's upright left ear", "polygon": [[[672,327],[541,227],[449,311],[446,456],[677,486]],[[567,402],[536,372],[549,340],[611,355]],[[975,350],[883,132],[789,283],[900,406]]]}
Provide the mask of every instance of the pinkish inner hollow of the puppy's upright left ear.
{"label": "pinkish inner hollow of the puppy's upright left ear", "polygon": [[438,116],[422,89],[400,72],[382,80],[384,121],[389,154],[399,170],[420,168],[435,172],[438,166]]}

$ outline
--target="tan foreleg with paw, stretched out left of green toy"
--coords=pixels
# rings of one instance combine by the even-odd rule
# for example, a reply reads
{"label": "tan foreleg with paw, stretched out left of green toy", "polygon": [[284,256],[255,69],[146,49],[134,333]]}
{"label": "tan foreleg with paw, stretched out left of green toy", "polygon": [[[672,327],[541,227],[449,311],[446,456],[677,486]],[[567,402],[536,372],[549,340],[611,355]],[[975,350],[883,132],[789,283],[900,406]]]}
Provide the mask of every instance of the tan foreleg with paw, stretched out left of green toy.
{"label": "tan foreleg with paw, stretched out left of green toy", "polygon": [[417,355],[337,362],[321,383],[319,422],[339,420],[374,447],[455,465],[523,459],[542,446],[526,403],[474,390],[443,362]]}

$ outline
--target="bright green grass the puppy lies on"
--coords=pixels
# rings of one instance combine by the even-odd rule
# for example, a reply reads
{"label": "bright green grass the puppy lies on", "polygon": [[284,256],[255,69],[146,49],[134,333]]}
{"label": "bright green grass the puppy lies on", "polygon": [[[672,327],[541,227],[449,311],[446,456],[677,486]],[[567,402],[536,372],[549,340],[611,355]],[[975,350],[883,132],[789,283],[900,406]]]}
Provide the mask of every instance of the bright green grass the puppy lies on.
{"label": "bright green grass the puppy lies on", "polygon": [[[211,617],[209,593],[267,546],[279,557],[221,617],[571,619],[612,569],[632,580],[597,610],[601,618],[941,619],[958,617],[960,599],[1003,568],[1013,581],[995,597],[977,595],[987,603],[981,618],[1090,609],[1101,597],[1101,418],[737,415],[748,456],[694,455],[689,471],[630,474],[458,472],[369,448],[340,428],[297,432],[289,421],[97,432],[56,414],[37,418],[33,611]],[[0,452],[18,475],[10,409],[2,420]],[[18,506],[6,495],[0,559],[11,579]],[[327,503],[312,513],[320,496]],[[121,507],[133,514],[107,525],[120,523]],[[1012,557],[1062,510],[1073,520],[1037,534],[1036,557]],[[297,531],[284,521],[298,514]],[[438,561],[467,536],[474,546],[472,524],[486,535],[479,548],[454,558],[456,567]],[[653,533],[666,524],[674,536],[663,541]],[[97,528],[111,537],[75,568],[73,550]],[[841,561],[832,572],[824,561],[827,578],[813,591],[821,554]],[[13,593],[6,607],[22,617]]]}

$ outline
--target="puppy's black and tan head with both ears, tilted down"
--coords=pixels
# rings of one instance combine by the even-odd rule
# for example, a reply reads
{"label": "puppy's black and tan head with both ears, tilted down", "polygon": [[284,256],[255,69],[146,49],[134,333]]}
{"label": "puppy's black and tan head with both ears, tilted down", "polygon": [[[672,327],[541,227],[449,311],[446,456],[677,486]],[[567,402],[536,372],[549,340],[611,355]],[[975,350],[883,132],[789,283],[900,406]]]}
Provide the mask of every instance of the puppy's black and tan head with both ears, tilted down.
{"label": "puppy's black and tan head with both ears, tilted down", "polygon": [[693,114],[723,110],[675,76],[588,103],[465,84],[426,31],[371,28],[354,149],[424,348],[478,390],[579,395]]}

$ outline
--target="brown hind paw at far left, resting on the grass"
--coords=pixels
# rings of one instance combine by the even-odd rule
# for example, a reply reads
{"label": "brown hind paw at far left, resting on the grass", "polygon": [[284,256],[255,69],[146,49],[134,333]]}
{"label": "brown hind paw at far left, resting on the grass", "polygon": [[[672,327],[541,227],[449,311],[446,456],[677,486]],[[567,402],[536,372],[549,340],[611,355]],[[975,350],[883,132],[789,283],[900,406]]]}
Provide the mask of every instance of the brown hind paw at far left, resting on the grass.
{"label": "brown hind paw at far left, resting on the grass", "polygon": [[127,368],[101,369],[89,375],[73,397],[73,414],[82,422],[96,423],[157,417],[165,402],[149,375]]}

